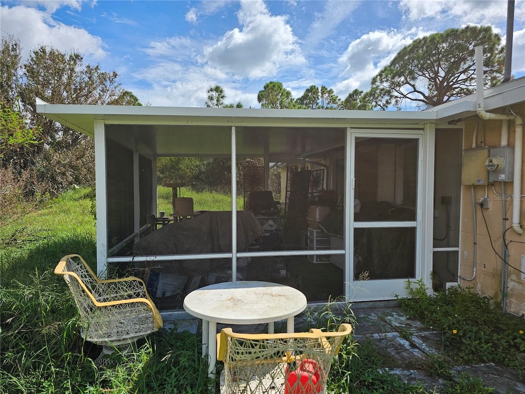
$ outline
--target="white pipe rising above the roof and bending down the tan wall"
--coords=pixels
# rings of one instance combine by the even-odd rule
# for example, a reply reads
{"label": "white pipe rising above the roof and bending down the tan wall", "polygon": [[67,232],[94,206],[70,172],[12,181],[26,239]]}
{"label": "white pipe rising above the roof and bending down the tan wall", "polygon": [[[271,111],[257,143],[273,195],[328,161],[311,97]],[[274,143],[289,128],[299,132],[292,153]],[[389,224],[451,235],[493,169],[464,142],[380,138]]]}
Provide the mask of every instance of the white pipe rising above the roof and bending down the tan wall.
{"label": "white pipe rising above the roof and bending down the tan wall", "polygon": [[[513,179],[513,199],[512,199],[512,229],[519,235],[523,234],[520,226],[520,201],[521,201],[521,158],[523,151],[523,119],[519,116],[507,115],[504,113],[485,112],[485,98],[483,92],[483,47],[476,47],[476,96],[478,103],[478,116],[484,120],[510,120],[514,119],[516,125],[516,136],[514,137],[514,179]],[[502,126],[502,133],[504,132]],[[504,139],[501,136],[502,140]],[[505,137],[508,138],[508,137]],[[502,141],[504,142],[504,141]],[[507,141],[508,142],[508,141]]]}

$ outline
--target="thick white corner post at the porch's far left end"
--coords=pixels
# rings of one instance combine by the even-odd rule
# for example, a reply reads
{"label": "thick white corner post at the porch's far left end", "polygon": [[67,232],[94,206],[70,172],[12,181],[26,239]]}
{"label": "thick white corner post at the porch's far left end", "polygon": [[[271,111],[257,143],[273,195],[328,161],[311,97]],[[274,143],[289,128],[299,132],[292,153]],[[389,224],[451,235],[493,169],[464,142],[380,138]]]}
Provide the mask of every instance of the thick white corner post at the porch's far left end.
{"label": "thick white corner post at the porch's far left end", "polygon": [[106,190],[106,129],[103,120],[95,120],[95,187],[97,190],[97,275],[108,271],[108,194]]}

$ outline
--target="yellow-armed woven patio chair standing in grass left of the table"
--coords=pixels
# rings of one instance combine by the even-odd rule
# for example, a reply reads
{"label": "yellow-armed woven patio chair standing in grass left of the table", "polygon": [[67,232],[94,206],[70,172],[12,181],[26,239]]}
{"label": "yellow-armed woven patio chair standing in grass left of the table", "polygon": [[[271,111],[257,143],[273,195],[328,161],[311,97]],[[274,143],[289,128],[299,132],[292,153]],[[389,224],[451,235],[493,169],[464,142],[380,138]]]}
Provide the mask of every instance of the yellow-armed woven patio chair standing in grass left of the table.
{"label": "yellow-armed woven patio chair standing in grass left of the table", "polygon": [[104,364],[115,348],[129,347],[162,327],[142,279],[101,280],[78,254],[62,257],[55,274],[64,277],[75,299],[82,337],[103,346],[96,364]]}

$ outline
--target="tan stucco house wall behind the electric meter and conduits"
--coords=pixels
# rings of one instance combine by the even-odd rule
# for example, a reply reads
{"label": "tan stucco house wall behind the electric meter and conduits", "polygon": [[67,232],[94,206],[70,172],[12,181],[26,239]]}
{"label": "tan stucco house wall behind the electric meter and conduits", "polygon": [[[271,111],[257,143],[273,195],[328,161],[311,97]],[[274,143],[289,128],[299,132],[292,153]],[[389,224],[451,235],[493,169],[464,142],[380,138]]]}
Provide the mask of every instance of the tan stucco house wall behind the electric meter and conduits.
{"label": "tan stucco house wall behind the electric meter and conduits", "polygon": [[[511,107],[520,116],[525,113],[525,103]],[[464,148],[472,146],[472,137],[476,130],[476,119],[465,122],[463,135]],[[501,120],[482,121],[485,134],[485,146],[501,146]],[[477,125],[478,147],[481,141],[481,128]],[[508,145],[514,147],[515,124],[509,122]],[[525,168],[525,160],[522,160],[522,168]],[[521,184],[525,184],[525,171],[521,173]],[[502,300],[502,296],[507,293],[506,310],[518,315],[525,314],[525,280],[521,279],[521,272],[512,267],[523,271],[521,265],[521,255],[525,254],[525,244],[523,235],[519,235],[512,229],[512,199],[520,199],[520,224],[523,228],[525,224],[524,210],[525,201],[520,191],[513,190],[512,182],[505,182],[505,199],[501,196],[501,182],[496,182],[495,188],[492,185],[474,186],[474,201],[476,204],[476,229],[477,229],[477,264],[476,276],[472,281],[460,279],[461,286],[472,286],[481,295],[494,297]],[[474,216],[472,215],[471,188],[468,185],[461,186],[461,242],[459,252],[460,275],[470,278],[474,269]],[[488,196],[490,205],[488,209],[479,206],[479,200]],[[485,220],[484,220],[485,216]],[[503,218],[508,218],[505,220]],[[485,222],[487,224],[485,224]],[[505,231],[507,230],[507,231]],[[505,241],[508,245],[508,290],[502,289],[503,261],[503,232]],[[499,254],[499,256],[498,256]]]}

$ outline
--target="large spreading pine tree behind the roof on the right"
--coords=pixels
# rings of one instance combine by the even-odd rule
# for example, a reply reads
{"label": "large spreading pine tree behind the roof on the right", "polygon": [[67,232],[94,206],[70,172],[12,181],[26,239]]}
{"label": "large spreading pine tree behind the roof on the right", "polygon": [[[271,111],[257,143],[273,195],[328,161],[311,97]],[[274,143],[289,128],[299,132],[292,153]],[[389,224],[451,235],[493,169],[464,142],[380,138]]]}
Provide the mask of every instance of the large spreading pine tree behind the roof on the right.
{"label": "large spreading pine tree behind the roof on the right", "polygon": [[483,46],[485,86],[502,76],[504,48],[490,26],[451,28],[415,39],[372,79],[371,98],[382,109],[405,100],[434,107],[472,94],[476,87],[474,48]]}

